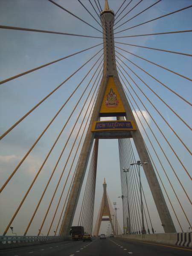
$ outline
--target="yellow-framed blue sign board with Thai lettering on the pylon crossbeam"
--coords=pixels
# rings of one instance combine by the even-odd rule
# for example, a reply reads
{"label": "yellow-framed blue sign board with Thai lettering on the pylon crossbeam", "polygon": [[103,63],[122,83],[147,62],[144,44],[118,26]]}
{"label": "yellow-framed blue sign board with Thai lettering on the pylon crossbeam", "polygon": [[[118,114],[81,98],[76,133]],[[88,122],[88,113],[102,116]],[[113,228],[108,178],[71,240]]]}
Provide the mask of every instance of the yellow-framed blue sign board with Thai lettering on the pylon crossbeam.
{"label": "yellow-framed blue sign board with Thai lettering on the pylon crossbeam", "polygon": [[91,131],[119,131],[119,130],[132,130],[135,131],[136,127],[134,121],[126,120],[112,120],[112,121],[98,121],[93,122]]}

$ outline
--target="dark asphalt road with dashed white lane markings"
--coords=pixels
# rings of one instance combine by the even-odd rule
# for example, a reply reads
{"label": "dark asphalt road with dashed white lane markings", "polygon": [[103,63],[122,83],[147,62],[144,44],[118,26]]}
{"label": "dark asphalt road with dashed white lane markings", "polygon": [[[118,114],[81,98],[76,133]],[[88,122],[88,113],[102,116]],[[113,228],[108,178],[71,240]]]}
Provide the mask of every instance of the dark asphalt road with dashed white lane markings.
{"label": "dark asphalt road with dashed white lane markings", "polygon": [[192,250],[117,238],[63,241],[1,250],[0,256],[192,256]]}

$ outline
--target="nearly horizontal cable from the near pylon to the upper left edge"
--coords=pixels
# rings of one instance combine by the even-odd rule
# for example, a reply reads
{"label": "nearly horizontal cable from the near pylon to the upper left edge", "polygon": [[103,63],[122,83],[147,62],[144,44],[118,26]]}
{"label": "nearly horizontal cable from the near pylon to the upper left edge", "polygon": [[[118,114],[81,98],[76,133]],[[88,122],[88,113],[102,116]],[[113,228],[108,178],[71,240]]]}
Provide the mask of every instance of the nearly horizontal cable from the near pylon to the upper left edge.
{"label": "nearly horizontal cable from the near pylon to the upper left edge", "polygon": [[12,29],[12,30],[22,30],[22,31],[29,31],[29,32],[40,32],[40,33],[48,33],[48,34],[57,34],[57,35],[71,35],[71,36],[79,36],[79,37],[87,37],[87,38],[103,38],[99,36],[91,36],[91,35],[78,35],[78,34],[71,34],[65,32],[57,32],[57,31],[49,31],[49,30],[42,30],[42,29],[28,29],[28,28],[21,28],[15,26],[3,26],[0,25],[0,29]]}

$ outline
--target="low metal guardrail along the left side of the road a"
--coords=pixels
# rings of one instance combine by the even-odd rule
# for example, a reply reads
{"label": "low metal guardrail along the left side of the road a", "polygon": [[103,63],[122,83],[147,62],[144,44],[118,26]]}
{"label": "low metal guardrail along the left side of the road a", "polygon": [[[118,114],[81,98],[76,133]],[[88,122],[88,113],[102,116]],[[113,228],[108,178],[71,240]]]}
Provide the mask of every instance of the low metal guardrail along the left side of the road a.
{"label": "low metal guardrail along the left side of the road a", "polygon": [[30,243],[36,241],[61,240],[65,236],[0,236],[0,244]]}

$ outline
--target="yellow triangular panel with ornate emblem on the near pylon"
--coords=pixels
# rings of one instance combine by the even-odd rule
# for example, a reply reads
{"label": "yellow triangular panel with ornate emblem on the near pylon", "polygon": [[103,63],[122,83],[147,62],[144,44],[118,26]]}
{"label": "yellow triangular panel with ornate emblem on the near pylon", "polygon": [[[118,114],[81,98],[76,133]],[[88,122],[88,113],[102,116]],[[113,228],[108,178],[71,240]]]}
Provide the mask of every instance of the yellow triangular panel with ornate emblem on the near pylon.
{"label": "yellow triangular panel with ornate emblem on the near pylon", "polygon": [[113,76],[108,78],[99,116],[125,116],[125,108]]}

